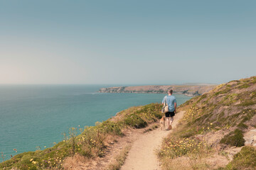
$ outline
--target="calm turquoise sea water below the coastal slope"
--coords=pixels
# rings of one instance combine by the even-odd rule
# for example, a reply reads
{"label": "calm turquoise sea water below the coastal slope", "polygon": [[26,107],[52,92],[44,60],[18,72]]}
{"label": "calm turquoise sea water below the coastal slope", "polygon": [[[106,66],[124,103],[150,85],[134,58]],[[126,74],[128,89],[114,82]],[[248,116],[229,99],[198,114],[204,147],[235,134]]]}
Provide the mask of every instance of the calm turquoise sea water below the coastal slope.
{"label": "calm turquoise sea water below the coastal slope", "polygon": [[[9,159],[11,154],[35,151],[36,147],[52,147],[71,127],[95,125],[131,106],[161,103],[165,96],[97,93],[101,87],[107,86],[1,85],[0,152]],[[191,98],[174,96],[178,105]]]}

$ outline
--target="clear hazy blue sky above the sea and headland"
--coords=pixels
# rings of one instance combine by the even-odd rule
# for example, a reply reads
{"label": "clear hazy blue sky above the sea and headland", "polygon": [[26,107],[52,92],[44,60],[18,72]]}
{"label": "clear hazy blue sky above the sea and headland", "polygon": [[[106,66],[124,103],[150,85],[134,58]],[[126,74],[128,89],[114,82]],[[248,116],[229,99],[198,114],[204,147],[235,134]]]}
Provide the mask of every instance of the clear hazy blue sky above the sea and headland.
{"label": "clear hazy blue sky above the sea and headland", "polygon": [[251,77],[255,21],[255,0],[0,0],[0,84]]}

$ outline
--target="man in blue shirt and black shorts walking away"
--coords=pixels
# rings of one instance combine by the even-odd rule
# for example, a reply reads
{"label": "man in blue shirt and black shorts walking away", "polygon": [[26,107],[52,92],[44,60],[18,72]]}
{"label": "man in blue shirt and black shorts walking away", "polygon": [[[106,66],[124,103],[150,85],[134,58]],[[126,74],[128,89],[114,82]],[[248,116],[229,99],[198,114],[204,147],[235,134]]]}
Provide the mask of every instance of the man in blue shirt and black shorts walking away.
{"label": "man in blue shirt and black shorts walking away", "polygon": [[162,103],[164,104],[164,101],[166,101],[167,105],[169,106],[169,112],[165,113],[167,125],[169,125],[167,130],[171,130],[171,123],[174,121],[174,115],[176,113],[176,98],[175,96],[172,96],[173,91],[168,91],[168,96],[164,96],[164,99]]}

